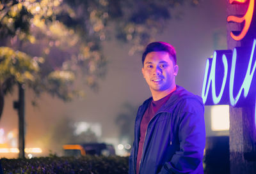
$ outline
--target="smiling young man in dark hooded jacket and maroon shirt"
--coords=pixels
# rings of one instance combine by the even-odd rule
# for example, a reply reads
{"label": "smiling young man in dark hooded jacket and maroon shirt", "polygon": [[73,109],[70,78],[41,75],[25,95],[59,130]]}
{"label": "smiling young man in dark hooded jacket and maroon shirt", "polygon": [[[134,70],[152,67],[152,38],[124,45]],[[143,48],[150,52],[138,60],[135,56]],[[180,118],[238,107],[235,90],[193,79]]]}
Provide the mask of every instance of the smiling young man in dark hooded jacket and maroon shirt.
{"label": "smiling young man in dark hooded jacket and maroon shirt", "polygon": [[204,105],[202,98],[176,85],[175,49],[150,43],[142,64],[152,98],[138,109],[129,174],[204,173]]}

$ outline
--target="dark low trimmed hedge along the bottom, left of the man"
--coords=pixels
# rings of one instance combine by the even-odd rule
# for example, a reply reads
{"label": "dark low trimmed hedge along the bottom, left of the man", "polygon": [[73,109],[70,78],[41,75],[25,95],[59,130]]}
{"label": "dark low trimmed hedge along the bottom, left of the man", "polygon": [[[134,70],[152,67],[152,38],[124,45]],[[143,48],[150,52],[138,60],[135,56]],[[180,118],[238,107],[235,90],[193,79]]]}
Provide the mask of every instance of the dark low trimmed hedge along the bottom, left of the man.
{"label": "dark low trimmed hedge along the bottom, left of the man", "polygon": [[1,159],[5,173],[128,173],[128,157],[37,157],[31,159]]}

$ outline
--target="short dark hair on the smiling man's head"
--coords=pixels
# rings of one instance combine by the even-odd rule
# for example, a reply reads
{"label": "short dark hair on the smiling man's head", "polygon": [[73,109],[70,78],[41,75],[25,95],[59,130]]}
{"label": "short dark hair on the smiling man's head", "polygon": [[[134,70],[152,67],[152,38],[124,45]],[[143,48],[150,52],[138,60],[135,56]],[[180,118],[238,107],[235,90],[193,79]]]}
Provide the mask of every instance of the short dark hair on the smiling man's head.
{"label": "short dark hair on the smiling man's head", "polygon": [[163,41],[156,41],[149,43],[145,48],[145,51],[142,55],[142,66],[144,66],[145,58],[150,52],[168,52],[170,58],[172,57],[171,59],[173,59],[174,64],[177,64],[175,48],[169,43]]}

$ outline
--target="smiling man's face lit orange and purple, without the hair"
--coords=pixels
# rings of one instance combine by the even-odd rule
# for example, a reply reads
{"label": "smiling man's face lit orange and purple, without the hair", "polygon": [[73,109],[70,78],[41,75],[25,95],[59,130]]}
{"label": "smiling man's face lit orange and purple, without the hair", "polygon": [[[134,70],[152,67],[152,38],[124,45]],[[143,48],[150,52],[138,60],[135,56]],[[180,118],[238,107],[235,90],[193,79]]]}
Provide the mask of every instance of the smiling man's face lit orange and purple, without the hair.
{"label": "smiling man's face lit orange and purple, without the hair", "polygon": [[168,92],[175,87],[178,70],[168,52],[150,52],[145,57],[142,73],[151,92]]}

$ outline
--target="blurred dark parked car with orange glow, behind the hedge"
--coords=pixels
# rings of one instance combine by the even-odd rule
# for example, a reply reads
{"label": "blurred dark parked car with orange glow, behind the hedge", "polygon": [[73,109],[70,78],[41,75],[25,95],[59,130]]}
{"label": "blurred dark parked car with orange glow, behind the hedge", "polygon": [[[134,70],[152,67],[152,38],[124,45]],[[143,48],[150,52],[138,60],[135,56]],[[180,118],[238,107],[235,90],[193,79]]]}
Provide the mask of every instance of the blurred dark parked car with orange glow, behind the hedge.
{"label": "blurred dark parked car with orange glow, behind the hedge", "polygon": [[77,143],[63,145],[64,156],[113,156],[115,149],[113,145],[106,143]]}

